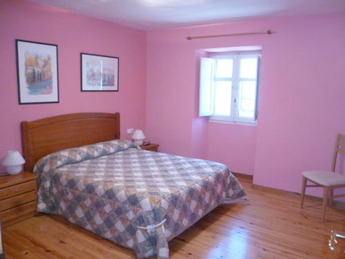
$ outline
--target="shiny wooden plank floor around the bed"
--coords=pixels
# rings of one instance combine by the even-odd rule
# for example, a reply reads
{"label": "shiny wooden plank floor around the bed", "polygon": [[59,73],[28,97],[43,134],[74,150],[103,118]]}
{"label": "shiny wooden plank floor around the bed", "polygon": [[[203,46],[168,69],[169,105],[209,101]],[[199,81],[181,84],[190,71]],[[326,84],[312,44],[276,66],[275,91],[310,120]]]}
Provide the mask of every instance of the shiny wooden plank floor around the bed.
{"label": "shiny wooden plank floor around the bed", "polygon": [[[248,195],[240,204],[224,204],[172,240],[171,258],[345,258],[345,242],[328,249],[331,229],[345,233],[345,213],[299,195],[253,189],[239,178]],[[3,233],[6,258],[113,259],[135,253],[59,218],[42,215],[12,225]]]}

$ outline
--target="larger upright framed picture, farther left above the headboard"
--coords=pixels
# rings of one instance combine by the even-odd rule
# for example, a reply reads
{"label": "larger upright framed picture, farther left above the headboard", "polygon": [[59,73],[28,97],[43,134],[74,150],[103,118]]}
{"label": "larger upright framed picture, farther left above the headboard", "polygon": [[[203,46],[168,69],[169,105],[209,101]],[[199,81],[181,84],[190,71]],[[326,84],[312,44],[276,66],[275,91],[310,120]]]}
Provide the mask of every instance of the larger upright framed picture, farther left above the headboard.
{"label": "larger upright framed picture, farther left above the headboard", "polygon": [[16,39],[19,104],[59,102],[57,45]]}

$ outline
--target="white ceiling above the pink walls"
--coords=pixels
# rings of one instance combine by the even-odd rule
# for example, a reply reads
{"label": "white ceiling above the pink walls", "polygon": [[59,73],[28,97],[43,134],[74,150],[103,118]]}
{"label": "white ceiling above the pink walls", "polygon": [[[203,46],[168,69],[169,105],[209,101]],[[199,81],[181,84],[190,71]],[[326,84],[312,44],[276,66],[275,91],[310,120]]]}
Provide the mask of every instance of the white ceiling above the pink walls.
{"label": "white ceiling above the pink walls", "polygon": [[140,30],[345,12],[345,0],[31,0]]}

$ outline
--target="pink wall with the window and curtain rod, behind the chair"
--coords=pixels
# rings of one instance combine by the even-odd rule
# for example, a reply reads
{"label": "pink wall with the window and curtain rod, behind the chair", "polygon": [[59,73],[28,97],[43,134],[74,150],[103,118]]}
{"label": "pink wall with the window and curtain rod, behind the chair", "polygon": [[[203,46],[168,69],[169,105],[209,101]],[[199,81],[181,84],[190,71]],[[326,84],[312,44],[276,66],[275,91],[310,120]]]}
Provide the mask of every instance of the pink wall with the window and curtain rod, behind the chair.
{"label": "pink wall with the window and curtain rod, behind the chair", "polygon": [[[329,169],[335,135],[345,133],[344,26],[343,14],[148,32],[148,136],[162,151],[193,155],[195,51],[262,46],[258,125],[208,123],[207,157],[233,171],[254,173],[255,184],[299,191],[301,172]],[[268,29],[277,33],[186,40],[188,35]]]}

